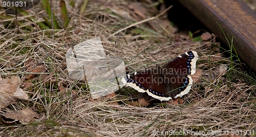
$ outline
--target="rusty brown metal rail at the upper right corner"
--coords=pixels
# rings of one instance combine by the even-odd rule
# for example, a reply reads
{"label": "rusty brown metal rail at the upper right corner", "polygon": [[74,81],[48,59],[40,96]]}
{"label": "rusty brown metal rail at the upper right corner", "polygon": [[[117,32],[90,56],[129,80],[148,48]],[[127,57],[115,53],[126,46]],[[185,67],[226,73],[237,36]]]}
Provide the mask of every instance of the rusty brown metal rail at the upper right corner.
{"label": "rusty brown metal rail at the upper right corner", "polygon": [[240,59],[256,71],[256,13],[253,10],[240,0],[178,1],[224,43],[228,44],[221,28],[233,37]]}

